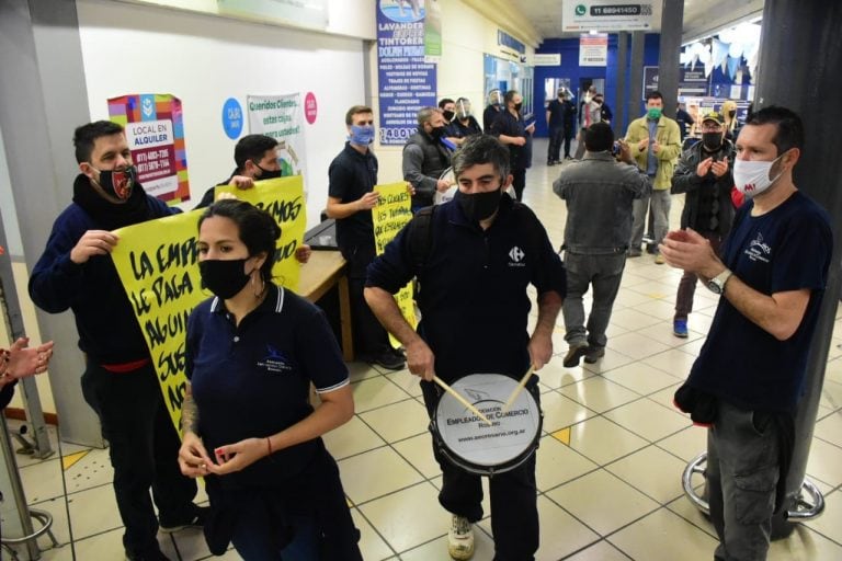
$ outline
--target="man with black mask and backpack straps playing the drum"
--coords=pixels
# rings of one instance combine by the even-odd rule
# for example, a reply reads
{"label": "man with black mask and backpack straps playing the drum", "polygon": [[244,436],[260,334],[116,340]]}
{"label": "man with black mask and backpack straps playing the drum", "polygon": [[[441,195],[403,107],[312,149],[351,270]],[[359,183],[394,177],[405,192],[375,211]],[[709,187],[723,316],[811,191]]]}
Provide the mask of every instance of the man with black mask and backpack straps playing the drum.
{"label": "man with black mask and backpack straps playing the drum", "polygon": [[[503,196],[512,182],[508,149],[493,137],[471,136],[454,154],[453,168],[459,185],[455,198],[417,215],[368,266],[365,288],[375,316],[405,345],[410,371],[423,379],[431,417],[442,393],[434,376],[447,383],[483,373],[520,380],[531,366],[544,366],[553,356],[551,333],[566,293],[565,268],[546,230],[528,207]],[[418,332],[392,298],[413,276],[420,285]],[[538,294],[532,336],[530,284]],[[536,376],[526,390],[537,402]],[[477,404],[482,399],[468,398]],[[470,559],[471,524],[482,517],[480,476],[448,461],[435,444],[433,454],[443,472],[439,502],[453,515],[451,557]],[[489,486],[494,559],[533,559],[538,549],[535,455],[494,472]]]}

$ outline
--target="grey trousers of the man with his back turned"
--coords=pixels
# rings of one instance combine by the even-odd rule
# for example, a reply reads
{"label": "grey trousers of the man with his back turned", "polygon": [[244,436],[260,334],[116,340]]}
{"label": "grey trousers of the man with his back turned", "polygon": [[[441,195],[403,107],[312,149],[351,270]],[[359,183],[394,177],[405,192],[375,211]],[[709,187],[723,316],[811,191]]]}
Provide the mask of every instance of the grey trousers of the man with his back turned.
{"label": "grey trousers of the man with his back turned", "polygon": [[[567,334],[565,341],[570,345],[583,345],[602,348],[607,342],[605,330],[608,328],[614,299],[623,279],[626,254],[584,255],[565,252],[567,270],[567,296],[561,307]],[[593,304],[584,324],[584,305],[582,296],[593,286]]]}

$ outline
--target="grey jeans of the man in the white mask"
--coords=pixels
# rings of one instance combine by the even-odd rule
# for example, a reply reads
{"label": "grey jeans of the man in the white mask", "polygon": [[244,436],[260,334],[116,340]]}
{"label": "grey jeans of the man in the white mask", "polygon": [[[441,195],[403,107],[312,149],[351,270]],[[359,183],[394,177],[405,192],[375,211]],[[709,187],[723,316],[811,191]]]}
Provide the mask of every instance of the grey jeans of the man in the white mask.
{"label": "grey jeans of the man in the white mask", "polygon": [[722,561],[764,561],[769,551],[775,488],[780,477],[778,434],[771,416],[719,401],[707,433],[710,522]]}

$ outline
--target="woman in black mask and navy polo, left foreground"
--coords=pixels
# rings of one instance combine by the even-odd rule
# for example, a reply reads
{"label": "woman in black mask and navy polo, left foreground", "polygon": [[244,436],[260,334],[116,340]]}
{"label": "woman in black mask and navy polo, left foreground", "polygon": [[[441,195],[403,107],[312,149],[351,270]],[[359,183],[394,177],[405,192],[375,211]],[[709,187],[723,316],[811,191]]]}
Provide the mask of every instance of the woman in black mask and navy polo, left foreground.
{"label": "woman in black mask and navy polo, left foreground", "polygon": [[353,415],[348,368],[325,314],[272,282],[280,236],[268,213],[240,201],[200,218],[202,283],[216,296],[187,324],[179,463],[206,478],[212,552],[231,542],[246,560],[362,560],[320,438]]}

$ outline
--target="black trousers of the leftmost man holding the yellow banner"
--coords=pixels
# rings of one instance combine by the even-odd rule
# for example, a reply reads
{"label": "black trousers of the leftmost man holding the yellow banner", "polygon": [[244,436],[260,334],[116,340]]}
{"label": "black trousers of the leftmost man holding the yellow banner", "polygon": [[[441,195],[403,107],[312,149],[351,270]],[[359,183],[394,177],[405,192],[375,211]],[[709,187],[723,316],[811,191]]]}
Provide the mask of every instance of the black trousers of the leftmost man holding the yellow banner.
{"label": "black trousers of the leftmost man holding the yellow banner", "polygon": [[82,393],[110,444],[114,494],[126,527],[123,545],[136,553],[157,549],[158,520],[149,489],[161,524],[174,526],[193,516],[196,482],[179,469],[181,442],[155,369],[147,365],[116,374],[88,364]]}

